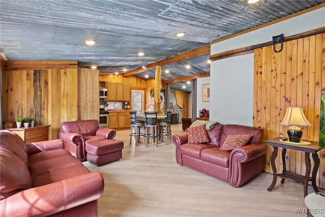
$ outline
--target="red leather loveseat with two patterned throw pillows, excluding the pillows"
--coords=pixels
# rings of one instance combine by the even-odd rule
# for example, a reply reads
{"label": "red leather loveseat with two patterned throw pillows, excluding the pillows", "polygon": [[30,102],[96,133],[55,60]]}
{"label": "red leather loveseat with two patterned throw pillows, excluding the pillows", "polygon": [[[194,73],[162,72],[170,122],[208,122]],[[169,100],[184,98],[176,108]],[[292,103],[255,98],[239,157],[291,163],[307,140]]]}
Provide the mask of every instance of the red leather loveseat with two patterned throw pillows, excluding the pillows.
{"label": "red leather loveseat with two patterned throw pillows, excluding the pillows", "polygon": [[[263,129],[241,125],[217,123],[207,130],[209,142],[188,143],[188,135],[172,137],[176,145],[176,162],[221,181],[240,187],[262,173],[265,162],[266,144],[261,144]],[[231,151],[220,150],[229,135],[252,134],[248,144]]]}

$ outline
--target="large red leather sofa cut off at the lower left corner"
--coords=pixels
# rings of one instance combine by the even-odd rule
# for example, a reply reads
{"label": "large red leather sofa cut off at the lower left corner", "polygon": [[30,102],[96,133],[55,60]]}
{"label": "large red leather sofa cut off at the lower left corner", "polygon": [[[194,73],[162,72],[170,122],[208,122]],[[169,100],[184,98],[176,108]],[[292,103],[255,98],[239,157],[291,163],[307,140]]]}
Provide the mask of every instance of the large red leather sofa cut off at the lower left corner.
{"label": "large red leather sofa cut off at the lower left corner", "polygon": [[0,131],[0,216],[97,216],[104,179],[61,139],[25,144]]}

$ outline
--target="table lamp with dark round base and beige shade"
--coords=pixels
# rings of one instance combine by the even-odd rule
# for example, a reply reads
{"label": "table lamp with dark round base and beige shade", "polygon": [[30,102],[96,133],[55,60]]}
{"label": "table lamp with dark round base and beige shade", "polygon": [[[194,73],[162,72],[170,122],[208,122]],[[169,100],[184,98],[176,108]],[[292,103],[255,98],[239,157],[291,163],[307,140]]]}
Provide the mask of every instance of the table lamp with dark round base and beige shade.
{"label": "table lamp with dark round base and beige shade", "polygon": [[311,126],[301,107],[288,107],[280,125],[290,126],[287,131],[290,142],[300,142],[303,131],[298,126]]}

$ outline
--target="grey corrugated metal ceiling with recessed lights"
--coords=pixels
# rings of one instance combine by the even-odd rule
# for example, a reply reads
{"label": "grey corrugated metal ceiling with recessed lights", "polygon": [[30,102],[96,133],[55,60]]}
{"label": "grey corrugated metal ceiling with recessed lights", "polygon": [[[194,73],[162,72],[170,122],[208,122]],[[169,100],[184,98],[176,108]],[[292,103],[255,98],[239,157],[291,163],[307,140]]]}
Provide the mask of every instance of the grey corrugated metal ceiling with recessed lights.
{"label": "grey corrugated metal ceiling with recessed lights", "polygon": [[[98,66],[101,74],[122,73],[323,2],[1,0],[1,52],[8,60],[78,60],[80,67]],[[178,32],[186,35],[177,38]],[[87,46],[85,39],[96,44]],[[145,55],[138,56],[139,51]],[[209,73],[208,58],[163,66],[170,73],[162,79]],[[190,70],[184,69],[186,64]],[[155,73],[136,76],[145,74],[153,78]]]}

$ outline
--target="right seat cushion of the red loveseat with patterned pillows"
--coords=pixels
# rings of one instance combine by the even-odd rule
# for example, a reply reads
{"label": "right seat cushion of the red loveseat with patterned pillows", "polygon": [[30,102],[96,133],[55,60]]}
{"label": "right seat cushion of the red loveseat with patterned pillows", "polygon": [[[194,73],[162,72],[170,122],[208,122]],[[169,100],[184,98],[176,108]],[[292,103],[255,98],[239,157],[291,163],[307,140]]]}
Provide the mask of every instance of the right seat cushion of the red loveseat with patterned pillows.
{"label": "right seat cushion of the red loveseat with patterned pillows", "polygon": [[229,167],[230,151],[220,150],[218,147],[206,148],[201,151],[201,160],[221,167]]}

